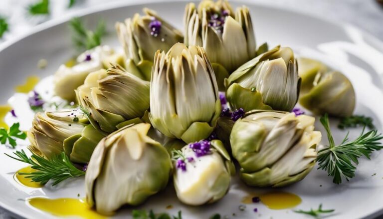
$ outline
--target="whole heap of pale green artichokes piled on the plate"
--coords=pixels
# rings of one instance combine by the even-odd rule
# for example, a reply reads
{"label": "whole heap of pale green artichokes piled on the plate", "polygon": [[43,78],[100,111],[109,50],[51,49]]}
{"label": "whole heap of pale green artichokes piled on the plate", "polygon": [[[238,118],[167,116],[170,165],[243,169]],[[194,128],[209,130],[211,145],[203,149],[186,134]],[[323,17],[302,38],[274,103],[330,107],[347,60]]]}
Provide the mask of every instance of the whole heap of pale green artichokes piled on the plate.
{"label": "whole heap of pale green artichokes piled on the plate", "polygon": [[100,46],[59,68],[56,94],[79,108],[37,113],[28,132],[33,153],[89,163],[87,202],[99,213],[140,205],[172,177],[181,202],[216,202],[234,160],[249,186],[295,183],[315,165],[321,141],[314,117],[291,112],[296,103],[314,114],[353,113],[342,73],[289,47],[257,51],[246,6],[189,3],[185,36],[144,13],[116,24],[124,54]]}

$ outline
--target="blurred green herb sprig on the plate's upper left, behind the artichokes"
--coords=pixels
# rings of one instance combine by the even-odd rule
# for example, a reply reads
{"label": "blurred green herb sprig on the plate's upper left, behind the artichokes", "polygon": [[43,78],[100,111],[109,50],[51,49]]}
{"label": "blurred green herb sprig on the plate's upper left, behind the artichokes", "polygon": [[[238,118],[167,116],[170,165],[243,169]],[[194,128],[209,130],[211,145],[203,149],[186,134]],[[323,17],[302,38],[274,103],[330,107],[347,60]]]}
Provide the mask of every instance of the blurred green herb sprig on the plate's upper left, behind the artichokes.
{"label": "blurred green herb sprig on the plate's upper left, behind the artichokes", "polygon": [[73,44],[78,50],[87,50],[101,44],[101,38],[105,35],[105,22],[100,20],[94,31],[87,30],[81,19],[74,17],[70,20],[69,26],[73,30]]}

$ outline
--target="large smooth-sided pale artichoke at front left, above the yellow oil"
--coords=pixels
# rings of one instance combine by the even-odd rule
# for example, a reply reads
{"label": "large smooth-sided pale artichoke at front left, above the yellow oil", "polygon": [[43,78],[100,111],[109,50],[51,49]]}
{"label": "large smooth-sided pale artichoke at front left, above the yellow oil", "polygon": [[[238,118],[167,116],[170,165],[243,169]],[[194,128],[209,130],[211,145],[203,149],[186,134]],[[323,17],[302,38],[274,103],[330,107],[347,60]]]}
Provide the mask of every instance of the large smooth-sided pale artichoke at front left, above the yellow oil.
{"label": "large smooth-sided pale artichoke at front left, above the yellow oil", "polygon": [[163,190],[172,173],[166,149],[147,136],[151,125],[126,126],[105,137],[90,159],[86,201],[104,215],[137,206]]}

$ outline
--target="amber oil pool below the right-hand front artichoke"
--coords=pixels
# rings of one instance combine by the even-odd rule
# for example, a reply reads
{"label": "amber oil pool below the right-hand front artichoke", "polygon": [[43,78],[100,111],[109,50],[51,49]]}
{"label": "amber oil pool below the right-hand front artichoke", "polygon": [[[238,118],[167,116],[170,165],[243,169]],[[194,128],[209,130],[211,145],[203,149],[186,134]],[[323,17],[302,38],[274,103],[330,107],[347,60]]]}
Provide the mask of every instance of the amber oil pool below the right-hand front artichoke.
{"label": "amber oil pool below the right-hand front artichoke", "polygon": [[269,209],[291,209],[301,204],[302,199],[292,193],[271,192],[259,196],[261,202]]}

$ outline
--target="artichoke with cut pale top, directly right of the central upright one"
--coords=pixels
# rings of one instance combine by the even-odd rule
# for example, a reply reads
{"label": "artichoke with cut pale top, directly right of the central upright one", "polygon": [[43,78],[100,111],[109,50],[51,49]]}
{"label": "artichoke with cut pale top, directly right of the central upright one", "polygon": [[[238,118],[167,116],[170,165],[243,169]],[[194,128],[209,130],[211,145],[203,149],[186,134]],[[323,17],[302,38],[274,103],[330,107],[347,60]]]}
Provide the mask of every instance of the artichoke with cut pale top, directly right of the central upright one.
{"label": "artichoke with cut pale top, directly right of the central upright one", "polygon": [[293,50],[277,46],[246,62],[225,80],[231,110],[243,108],[291,111],[301,79]]}

